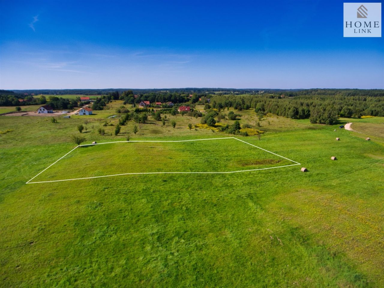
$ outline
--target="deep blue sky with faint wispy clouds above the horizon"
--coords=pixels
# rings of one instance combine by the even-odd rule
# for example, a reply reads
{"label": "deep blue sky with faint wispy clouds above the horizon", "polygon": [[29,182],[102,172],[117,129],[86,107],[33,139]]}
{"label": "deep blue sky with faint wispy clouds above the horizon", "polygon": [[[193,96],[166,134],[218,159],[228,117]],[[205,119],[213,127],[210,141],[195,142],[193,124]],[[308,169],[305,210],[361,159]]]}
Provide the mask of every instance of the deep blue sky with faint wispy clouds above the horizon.
{"label": "deep blue sky with faint wispy clouds above the horizon", "polygon": [[0,0],[0,10],[0,89],[384,89],[383,38],[344,38],[342,1]]}

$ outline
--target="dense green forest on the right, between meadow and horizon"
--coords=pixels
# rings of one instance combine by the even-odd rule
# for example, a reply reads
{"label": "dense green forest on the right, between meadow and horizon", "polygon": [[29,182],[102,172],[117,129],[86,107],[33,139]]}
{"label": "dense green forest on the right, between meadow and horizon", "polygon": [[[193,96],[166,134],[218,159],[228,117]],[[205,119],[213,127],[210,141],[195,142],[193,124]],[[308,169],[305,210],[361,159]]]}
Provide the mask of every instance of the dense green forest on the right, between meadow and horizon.
{"label": "dense green forest on the right, between meadow and horizon", "polygon": [[215,95],[212,108],[272,113],[312,123],[333,124],[338,117],[384,116],[383,90],[305,90],[259,95]]}

